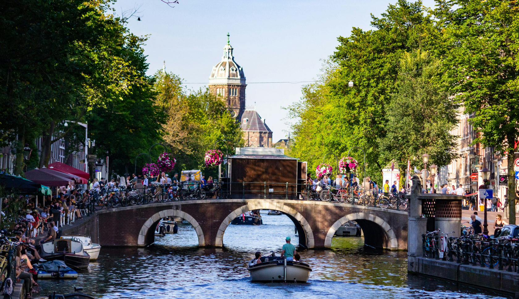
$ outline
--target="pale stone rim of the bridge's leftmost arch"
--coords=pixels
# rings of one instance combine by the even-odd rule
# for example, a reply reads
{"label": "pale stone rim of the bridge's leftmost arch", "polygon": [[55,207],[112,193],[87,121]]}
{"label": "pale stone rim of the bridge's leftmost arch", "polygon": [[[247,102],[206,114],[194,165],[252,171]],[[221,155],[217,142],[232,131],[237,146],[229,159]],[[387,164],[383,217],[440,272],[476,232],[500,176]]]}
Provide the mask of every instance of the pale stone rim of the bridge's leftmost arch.
{"label": "pale stone rim of the bridge's leftmost arch", "polygon": [[193,227],[195,228],[196,234],[198,236],[198,246],[206,246],[206,241],[203,237],[202,228],[198,224],[191,215],[186,212],[180,210],[163,210],[158,213],[155,213],[153,216],[148,218],[146,222],[141,227],[141,232],[139,233],[138,245],[146,246],[147,244],[151,244],[155,239],[155,227],[157,226],[160,219],[164,217],[180,217],[184,220],[187,220]]}

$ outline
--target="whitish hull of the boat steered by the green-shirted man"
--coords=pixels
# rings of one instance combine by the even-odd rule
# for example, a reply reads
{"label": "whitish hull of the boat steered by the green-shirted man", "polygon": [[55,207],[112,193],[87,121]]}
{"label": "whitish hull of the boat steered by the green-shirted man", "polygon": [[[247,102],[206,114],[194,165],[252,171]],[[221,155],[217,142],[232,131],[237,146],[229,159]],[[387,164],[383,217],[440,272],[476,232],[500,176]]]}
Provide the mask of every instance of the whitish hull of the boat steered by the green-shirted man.
{"label": "whitish hull of the boat steered by the green-shirted man", "polygon": [[[281,263],[280,263],[281,262]],[[286,280],[284,278],[283,261],[277,264],[258,265],[248,268],[252,281],[263,282],[307,282],[310,277],[310,268],[307,266],[286,266]]]}

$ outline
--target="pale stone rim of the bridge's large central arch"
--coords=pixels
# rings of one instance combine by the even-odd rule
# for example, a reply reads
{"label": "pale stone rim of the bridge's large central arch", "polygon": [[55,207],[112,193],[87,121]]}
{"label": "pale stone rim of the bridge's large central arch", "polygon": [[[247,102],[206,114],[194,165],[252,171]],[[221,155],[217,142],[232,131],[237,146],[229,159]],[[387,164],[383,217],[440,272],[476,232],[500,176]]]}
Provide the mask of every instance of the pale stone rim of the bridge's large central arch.
{"label": "pale stone rim of the bridge's large central arch", "polygon": [[[285,213],[289,218],[294,222],[298,232],[299,232],[299,243],[307,248],[314,247],[314,239],[313,232],[310,227],[310,224],[306,221],[306,219],[301,215],[301,213],[296,210],[285,206],[283,202],[273,202],[273,201],[251,201],[248,202],[247,205],[241,206],[240,208],[231,212],[224,219],[220,227],[218,228],[218,233],[216,234],[215,246],[222,247],[223,246],[223,237],[225,233],[225,229],[229,224],[242,213],[251,211],[251,210],[276,210]],[[305,237],[305,244],[301,241],[302,235]]]}

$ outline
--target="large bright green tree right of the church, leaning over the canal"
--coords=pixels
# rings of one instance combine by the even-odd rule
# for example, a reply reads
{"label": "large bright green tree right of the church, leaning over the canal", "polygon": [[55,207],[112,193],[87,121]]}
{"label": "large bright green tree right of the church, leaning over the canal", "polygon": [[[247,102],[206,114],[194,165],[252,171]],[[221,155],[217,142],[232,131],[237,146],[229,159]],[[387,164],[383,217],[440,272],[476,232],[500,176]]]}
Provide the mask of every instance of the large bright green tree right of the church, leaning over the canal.
{"label": "large bright green tree right of the church, leaning over the canal", "polygon": [[[380,157],[378,139],[386,135],[386,105],[395,92],[399,60],[425,47],[422,35],[432,24],[420,1],[399,0],[372,19],[376,30],[353,28],[350,37],[338,38],[321,82],[304,87],[303,100],[289,107],[290,116],[298,119],[291,154],[308,161],[310,171],[327,152],[340,157],[360,146],[366,151],[366,174],[381,180],[387,161]],[[348,87],[350,80],[354,87]],[[362,152],[352,155],[362,165]]]}

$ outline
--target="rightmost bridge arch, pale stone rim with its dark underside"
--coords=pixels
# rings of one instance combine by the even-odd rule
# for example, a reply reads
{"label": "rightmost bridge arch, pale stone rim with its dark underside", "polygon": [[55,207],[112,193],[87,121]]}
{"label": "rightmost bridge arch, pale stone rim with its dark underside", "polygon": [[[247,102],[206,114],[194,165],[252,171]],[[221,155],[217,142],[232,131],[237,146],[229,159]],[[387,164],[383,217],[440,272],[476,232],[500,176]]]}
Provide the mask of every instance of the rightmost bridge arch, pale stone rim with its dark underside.
{"label": "rightmost bridge arch, pale stone rim with its dark underside", "polygon": [[337,220],[326,234],[324,247],[332,247],[332,238],[336,230],[348,221],[356,221],[361,226],[365,244],[371,243],[374,247],[398,250],[398,239],[391,226],[384,219],[371,213],[351,213]]}

